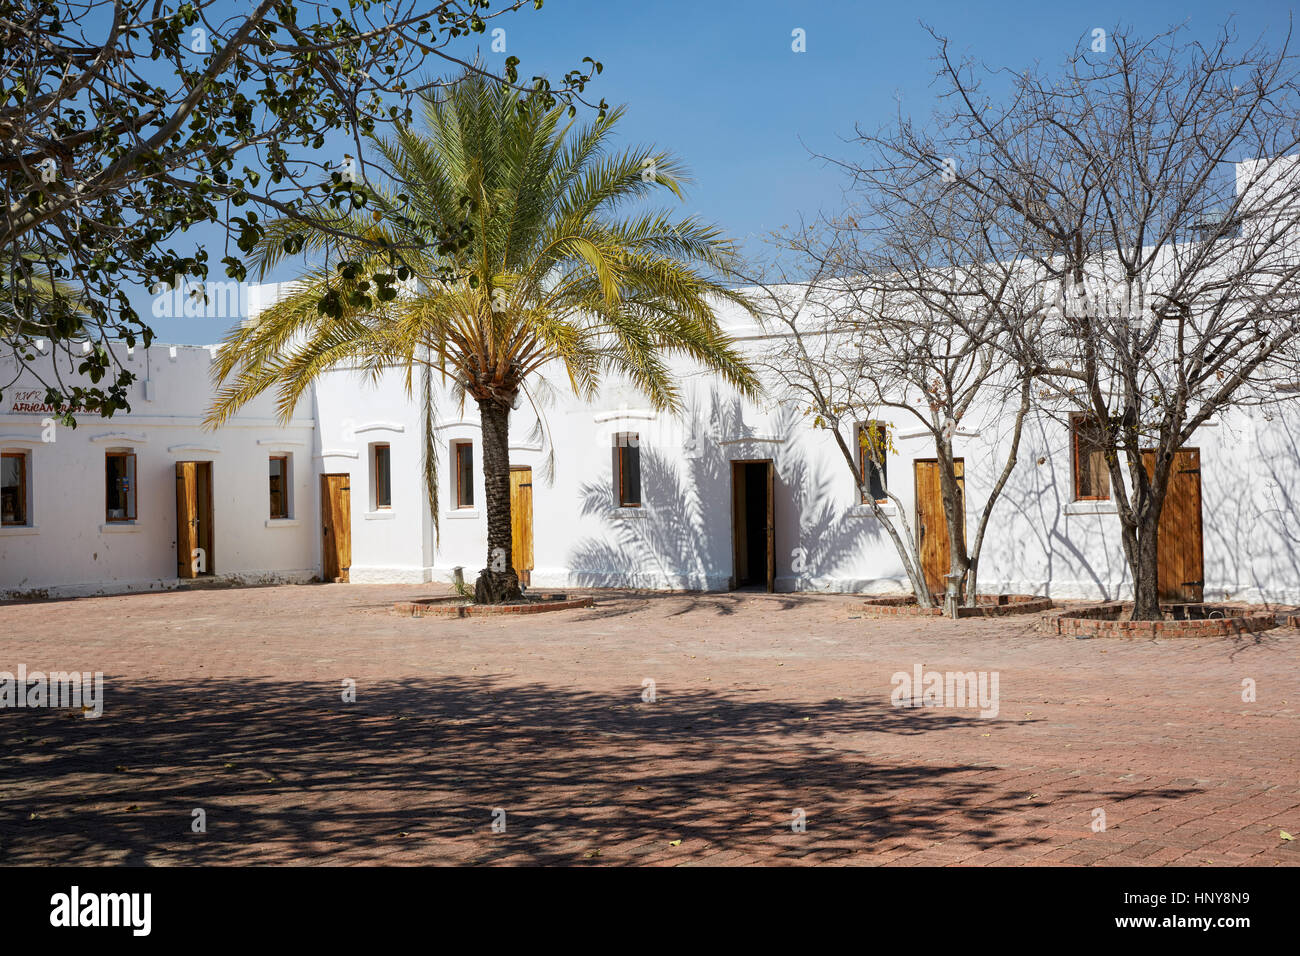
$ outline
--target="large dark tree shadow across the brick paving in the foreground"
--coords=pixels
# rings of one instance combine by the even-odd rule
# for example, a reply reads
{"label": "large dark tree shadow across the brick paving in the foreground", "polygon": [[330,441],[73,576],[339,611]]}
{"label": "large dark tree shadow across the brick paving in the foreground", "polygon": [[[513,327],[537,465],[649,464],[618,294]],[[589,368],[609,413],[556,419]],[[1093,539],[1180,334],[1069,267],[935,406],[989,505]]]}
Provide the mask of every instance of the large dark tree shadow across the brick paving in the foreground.
{"label": "large dark tree shadow across the brick paving in the foreground", "polygon": [[[974,711],[640,693],[455,676],[365,682],[344,704],[320,682],[109,679],[100,719],[0,711],[0,860],[636,862],[681,840],[673,862],[718,849],[819,862],[954,835],[1005,849],[1044,839],[1013,826],[1034,805],[987,761],[845,747],[1001,723]],[[806,834],[790,830],[801,808]],[[195,809],[205,834],[191,832]]]}

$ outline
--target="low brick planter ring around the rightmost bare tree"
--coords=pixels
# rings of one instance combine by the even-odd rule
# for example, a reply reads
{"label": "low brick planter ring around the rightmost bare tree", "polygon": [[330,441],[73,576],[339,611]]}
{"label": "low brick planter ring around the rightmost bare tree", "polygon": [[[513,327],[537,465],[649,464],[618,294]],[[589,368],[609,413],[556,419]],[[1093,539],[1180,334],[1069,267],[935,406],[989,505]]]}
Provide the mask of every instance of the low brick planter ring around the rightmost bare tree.
{"label": "low brick planter ring around the rightmost bare tree", "polygon": [[1164,620],[1124,620],[1131,604],[1118,601],[1044,614],[1039,627],[1063,637],[1228,637],[1278,627],[1275,611],[1213,604],[1161,605]]}

